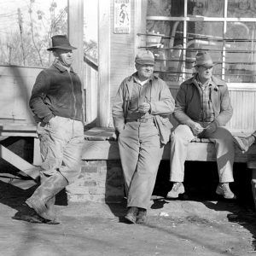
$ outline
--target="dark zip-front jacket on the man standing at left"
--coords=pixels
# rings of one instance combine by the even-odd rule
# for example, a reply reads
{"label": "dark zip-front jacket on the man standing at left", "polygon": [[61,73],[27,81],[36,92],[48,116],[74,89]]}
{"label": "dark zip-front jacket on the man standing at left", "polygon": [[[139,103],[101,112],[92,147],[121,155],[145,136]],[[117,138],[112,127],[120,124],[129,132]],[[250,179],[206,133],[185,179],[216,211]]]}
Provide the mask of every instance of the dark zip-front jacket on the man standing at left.
{"label": "dark zip-front jacket on the man standing at left", "polygon": [[38,74],[29,106],[37,121],[48,123],[54,116],[83,120],[82,84],[78,74],[59,63]]}

